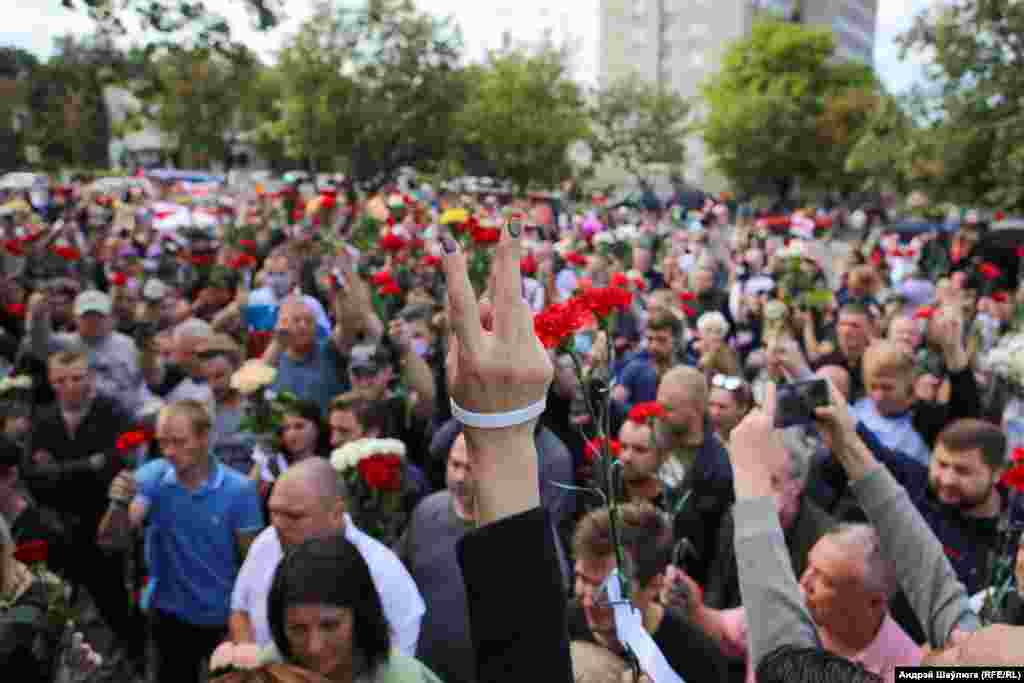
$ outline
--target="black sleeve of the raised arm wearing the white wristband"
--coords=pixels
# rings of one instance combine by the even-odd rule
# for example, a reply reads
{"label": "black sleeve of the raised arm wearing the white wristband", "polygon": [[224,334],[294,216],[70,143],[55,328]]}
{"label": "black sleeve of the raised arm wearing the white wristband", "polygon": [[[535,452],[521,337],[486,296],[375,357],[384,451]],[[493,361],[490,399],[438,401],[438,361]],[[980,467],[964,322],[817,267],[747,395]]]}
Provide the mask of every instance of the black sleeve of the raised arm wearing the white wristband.
{"label": "black sleeve of the raised arm wearing the white wristband", "polygon": [[542,508],[484,525],[457,546],[479,683],[571,683],[565,591]]}

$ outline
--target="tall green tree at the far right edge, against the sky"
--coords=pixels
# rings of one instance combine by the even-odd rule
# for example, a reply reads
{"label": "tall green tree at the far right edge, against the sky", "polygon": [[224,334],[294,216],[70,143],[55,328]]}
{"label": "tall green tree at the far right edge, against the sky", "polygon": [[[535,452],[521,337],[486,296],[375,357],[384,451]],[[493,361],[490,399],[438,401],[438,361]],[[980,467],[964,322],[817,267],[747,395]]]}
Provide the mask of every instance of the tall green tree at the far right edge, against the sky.
{"label": "tall green tree at the far right edge, against the sky", "polygon": [[951,201],[1024,209],[1024,5],[950,0],[901,37],[931,55],[932,188]]}

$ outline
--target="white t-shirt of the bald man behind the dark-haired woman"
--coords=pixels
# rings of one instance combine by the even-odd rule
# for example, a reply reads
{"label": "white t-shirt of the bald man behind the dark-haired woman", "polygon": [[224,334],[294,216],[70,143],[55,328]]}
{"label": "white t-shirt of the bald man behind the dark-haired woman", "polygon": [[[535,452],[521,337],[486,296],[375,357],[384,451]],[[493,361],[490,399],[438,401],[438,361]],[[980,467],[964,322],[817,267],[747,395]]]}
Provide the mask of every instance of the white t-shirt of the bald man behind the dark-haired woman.
{"label": "white t-shirt of the bald man behind the dark-haired woman", "polygon": [[[398,556],[380,541],[356,528],[348,515],[345,515],[345,539],[356,547],[370,566],[370,575],[380,595],[384,616],[391,627],[392,647],[402,654],[414,656],[416,641],[420,638],[420,623],[427,611],[416,583]],[[282,557],[284,552],[278,530],[268,526],[250,547],[231,591],[231,610],[249,615],[253,636],[261,646],[273,641],[266,614],[266,598]]]}

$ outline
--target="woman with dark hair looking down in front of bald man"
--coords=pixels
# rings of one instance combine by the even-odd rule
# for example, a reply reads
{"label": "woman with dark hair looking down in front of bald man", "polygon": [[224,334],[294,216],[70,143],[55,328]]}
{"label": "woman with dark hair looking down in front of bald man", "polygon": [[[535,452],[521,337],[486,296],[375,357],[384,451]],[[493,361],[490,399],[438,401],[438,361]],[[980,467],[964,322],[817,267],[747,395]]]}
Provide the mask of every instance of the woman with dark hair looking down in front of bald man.
{"label": "woman with dark hair looking down in front of bald man", "polygon": [[332,683],[440,683],[418,659],[391,649],[370,567],[343,537],[311,539],[285,556],[267,618],[280,658]]}

